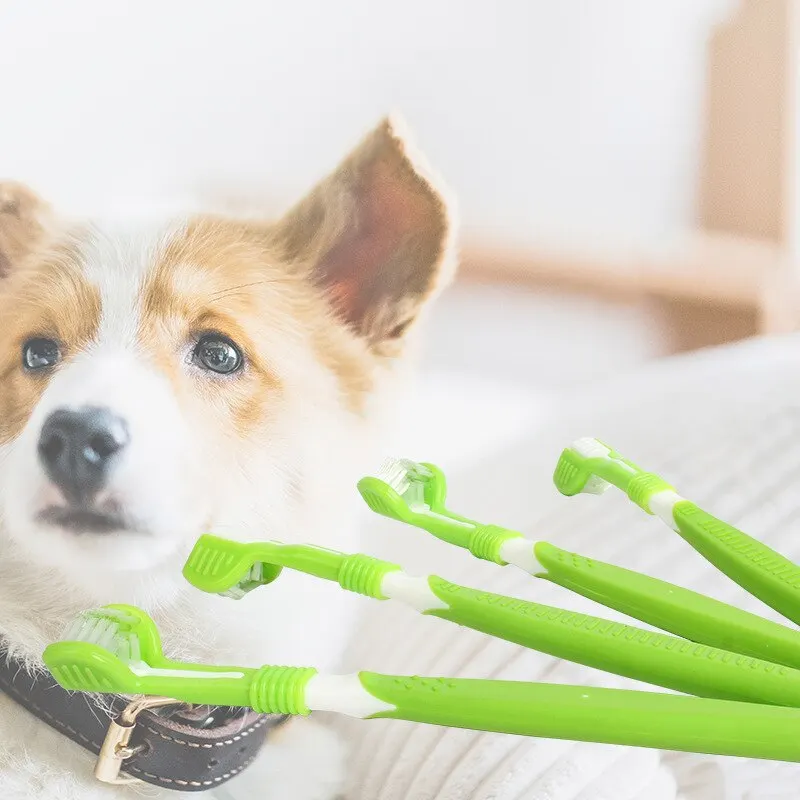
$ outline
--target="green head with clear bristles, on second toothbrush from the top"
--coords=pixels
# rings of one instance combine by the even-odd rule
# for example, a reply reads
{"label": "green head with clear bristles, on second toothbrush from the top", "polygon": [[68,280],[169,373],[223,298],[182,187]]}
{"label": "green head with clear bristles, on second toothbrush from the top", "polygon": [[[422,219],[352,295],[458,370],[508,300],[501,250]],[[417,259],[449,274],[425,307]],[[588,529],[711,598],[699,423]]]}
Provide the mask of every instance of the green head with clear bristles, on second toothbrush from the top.
{"label": "green head with clear bristles, on second toothbrush from the top", "polygon": [[447,481],[433,464],[387,458],[376,475],[358,482],[358,491],[376,514],[410,523],[421,512],[444,511]]}

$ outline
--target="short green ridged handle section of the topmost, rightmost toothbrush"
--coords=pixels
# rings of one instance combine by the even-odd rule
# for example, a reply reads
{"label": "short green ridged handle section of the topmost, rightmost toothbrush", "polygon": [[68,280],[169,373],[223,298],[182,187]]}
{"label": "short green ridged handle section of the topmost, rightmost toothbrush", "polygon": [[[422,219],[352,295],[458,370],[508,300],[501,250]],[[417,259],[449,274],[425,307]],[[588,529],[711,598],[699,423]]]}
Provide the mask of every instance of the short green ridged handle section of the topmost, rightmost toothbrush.
{"label": "short green ridged handle section of the topmost, rightmost toothbrush", "polygon": [[800,567],[688,500],[672,511],[678,533],[743,589],[800,624]]}

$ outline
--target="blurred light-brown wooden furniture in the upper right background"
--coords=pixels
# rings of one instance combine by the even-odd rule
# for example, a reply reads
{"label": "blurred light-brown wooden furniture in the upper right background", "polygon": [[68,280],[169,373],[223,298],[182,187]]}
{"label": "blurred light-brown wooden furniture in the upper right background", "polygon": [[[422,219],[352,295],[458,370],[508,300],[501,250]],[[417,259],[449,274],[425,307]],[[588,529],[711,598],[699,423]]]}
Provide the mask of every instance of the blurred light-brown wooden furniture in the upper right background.
{"label": "blurred light-brown wooden furniture in the upper right background", "polygon": [[[472,280],[520,281],[641,300],[719,340],[800,327],[800,0],[742,0],[708,47],[697,230],[656,252],[579,253],[467,242]],[[699,317],[697,316],[699,314]],[[712,343],[712,342],[709,342]]]}

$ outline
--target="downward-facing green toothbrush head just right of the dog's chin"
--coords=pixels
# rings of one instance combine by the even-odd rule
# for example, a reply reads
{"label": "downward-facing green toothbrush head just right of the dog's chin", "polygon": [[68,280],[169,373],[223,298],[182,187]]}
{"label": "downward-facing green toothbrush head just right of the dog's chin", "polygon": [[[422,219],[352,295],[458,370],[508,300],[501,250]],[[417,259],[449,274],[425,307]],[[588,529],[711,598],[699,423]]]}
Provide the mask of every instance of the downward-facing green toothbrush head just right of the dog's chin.
{"label": "downward-facing green toothbrush head just right of the dog's chin", "polygon": [[264,545],[204,534],[184,564],[183,577],[201,591],[240,600],[281,573],[281,567],[263,560],[263,550]]}

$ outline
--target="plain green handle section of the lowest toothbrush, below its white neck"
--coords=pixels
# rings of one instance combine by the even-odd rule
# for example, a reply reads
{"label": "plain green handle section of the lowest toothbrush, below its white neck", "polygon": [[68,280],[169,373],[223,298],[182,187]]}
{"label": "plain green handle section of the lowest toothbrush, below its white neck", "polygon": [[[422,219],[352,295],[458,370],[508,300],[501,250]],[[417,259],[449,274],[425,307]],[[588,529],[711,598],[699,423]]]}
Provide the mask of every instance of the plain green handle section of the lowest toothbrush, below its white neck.
{"label": "plain green handle section of the lowest toothbrush, below its white neck", "polygon": [[800,711],[546,683],[359,673],[372,717],[665,750],[800,761]]}

